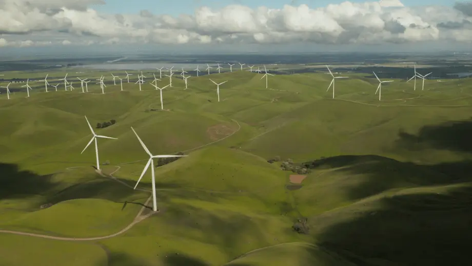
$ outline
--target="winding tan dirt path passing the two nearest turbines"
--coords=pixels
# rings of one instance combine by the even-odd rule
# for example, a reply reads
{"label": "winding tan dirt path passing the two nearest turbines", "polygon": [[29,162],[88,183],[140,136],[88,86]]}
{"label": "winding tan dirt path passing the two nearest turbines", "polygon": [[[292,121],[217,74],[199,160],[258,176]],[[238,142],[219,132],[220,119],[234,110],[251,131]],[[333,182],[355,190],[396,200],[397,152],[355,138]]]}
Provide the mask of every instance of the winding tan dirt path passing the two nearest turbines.
{"label": "winding tan dirt path passing the two nearest turbines", "polygon": [[[216,140],[216,141],[213,141],[213,142],[210,142],[210,143],[207,143],[205,145],[201,145],[199,147],[195,147],[195,148],[191,148],[191,149],[187,149],[187,150],[184,150],[182,151],[183,153],[185,153],[186,151],[190,151],[190,150],[195,150],[195,149],[199,149],[199,148],[202,148],[202,147],[205,147],[205,146],[208,146],[208,145],[211,145],[211,144],[214,144],[214,143],[217,143],[219,141],[222,141],[222,140],[225,140],[229,137],[231,137],[232,135],[234,135],[236,132],[238,132],[240,129],[241,129],[241,125],[239,124],[238,121],[232,119],[232,121],[236,122],[238,124],[238,129],[234,130],[230,135],[224,137],[224,138],[221,138],[219,140]],[[142,160],[139,160],[139,161],[133,161],[133,162],[128,162],[128,163],[134,163],[134,162],[140,162]],[[128,164],[128,163],[122,163],[121,165],[123,164]],[[109,177],[113,180],[115,180],[116,182],[119,182],[120,184],[122,185],[125,185],[129,188],[133,188],[132,186],[126,184],[125,182],[117,179],[116,177],[113,176],[114,173],[118,172],[118,170],[120,170],[121,166],[120,165],[115,165],[117,168],[116,170],[114,170],[112,173],[110,173],[108,176],[107,175],[104,175],[104,174],[101,174],[102,176],[104,177]],[[74,168],[81,168],[81,167],[86,167],[86,166],[73,166],[73,167],[67,167],[65,170],[63,171],[60,171],[60,172],[65,172],[66,170],[70,170],[70,169],[74,169]],[[56,172],[56,173],[60,173],[60,172]],[[149,192],[151,193],[151,191],[147,190],[147,189],[140,189],[140,188],[136,188],[136,190],[139,190],[139,191],[144,191],[144,192]],[[54,239],[54,240],[63,240],[63,241],[94,241],[94,240],[101,240],[101,239],[106,239],[106,238],[111,238],[111,237],[115,237],[115,236],[119,236],[123,233],[125,233],[126,231],[130,230],[136,223],[139,223],[141,222],[142,220],[152,216],[153,214],[156,214],[156,213],[159,213],[159,211],[157,212],[150,212],[144,216],[142,216],[144,210],[146,209],[147,207],[147,204],[149,203],[149,201],[152,199],[152,194],[149,196],[149,198],[146,200],[146,202],[144,203],[143,207],[141,207],[141,210],[137,213],[137,215],[134,217],[133,221],[128,224],[128,226],[126,226],[124,229],[122,229],[121,231],[119,232],[116,232],[114,234],[111,234],[111,235],[107,235],[107,236],[99,236],[99,237],[86,237],[86,238],[77,238],[77,237],[60,237],[60,236],[50,236],[50,235],[44,235],[44,234],[35,234],[35,233],[27,233],[27,232],[21,232],[21,231],[10,231],[10,230],[0,230],[0,233],[4,233],[4,234],[13,234],[13,235],[23,235],[23,236],[33,236],[33,237],[41,237],[41,238],[47,238],[47,239]]]}

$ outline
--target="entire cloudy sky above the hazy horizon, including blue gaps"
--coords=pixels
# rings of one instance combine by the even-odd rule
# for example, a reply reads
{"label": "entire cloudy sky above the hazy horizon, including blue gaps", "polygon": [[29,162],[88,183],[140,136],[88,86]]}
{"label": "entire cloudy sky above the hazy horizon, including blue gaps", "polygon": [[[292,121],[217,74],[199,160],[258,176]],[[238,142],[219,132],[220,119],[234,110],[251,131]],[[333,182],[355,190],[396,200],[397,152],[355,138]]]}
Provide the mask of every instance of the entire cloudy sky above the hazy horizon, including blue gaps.
{"label": "entire cloudy sky above the hazy horizon, including blue gaps", "polygon": [[0,54],[469,47],[470,1],[0,0]]}

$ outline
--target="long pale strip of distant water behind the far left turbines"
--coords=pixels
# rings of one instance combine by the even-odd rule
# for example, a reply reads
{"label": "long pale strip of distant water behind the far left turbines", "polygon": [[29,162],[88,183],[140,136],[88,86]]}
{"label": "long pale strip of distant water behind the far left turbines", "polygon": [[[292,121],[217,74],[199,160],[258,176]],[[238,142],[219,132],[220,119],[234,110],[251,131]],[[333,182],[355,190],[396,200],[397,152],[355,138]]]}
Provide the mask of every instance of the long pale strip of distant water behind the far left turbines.
{"label": "long pale strip of distant water behind the far left turbines", "polygon": [[[91,65],[82,65],[82,66],[74,66],[78,68],[91,68],[91,69],[106,69],[106,70],[146,70],[146,69],[155,69],[155,68],[161,68],[164,67],[162,70],[170,67],[174,67],[173,69],[196,69],[196,66],[198,64],[179,64],[179,63],[117,63],[117,64],[91,64]],[[211,71],[215,71],[215,68],[218,66],[216,64],[212,65],[210,64]],[[228,65],[223,65],[221,64],[221,67],[223,69],[229,69]],[[236,65],[233,66],[233,68],[236,67]],[[200,71],[205,71],[207,68],[206,64],[200,64],[199,65],[199,70]]]}

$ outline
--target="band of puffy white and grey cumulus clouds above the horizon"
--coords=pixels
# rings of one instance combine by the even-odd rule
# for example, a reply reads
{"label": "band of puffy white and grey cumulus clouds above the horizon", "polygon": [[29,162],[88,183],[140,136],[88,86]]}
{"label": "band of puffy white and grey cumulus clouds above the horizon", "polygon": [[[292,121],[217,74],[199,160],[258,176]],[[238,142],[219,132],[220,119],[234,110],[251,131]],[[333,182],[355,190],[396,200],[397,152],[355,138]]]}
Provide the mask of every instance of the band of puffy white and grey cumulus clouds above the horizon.
{"label": "band of puffy white and grey cumulus clouds above the horizon", "polygon": [[101,4],[104,1],[0,0],[0,34],[5,40],[0,46],[8,45],[15,35],[23,36],[23,45],[15,42],[18,46],[44,45],[54,34],[62,37],[59,43],[80,37],[74,44],[85,45],[472,41],[470,3],[405,7],[400,0],[346,1],[310,8],[293,2],[280,9],[228,5],[218,10],[202,6],[192,15],[178,16],[148,10],[101,14],[93,9]]}

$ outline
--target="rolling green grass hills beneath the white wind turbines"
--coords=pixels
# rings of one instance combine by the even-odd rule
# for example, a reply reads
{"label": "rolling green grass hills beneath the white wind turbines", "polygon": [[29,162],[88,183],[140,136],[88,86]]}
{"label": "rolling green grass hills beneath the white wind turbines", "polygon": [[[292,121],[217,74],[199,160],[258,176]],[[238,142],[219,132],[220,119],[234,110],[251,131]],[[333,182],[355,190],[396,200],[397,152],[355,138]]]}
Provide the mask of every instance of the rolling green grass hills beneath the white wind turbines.
{"label": "rolling green grass hills beneath the white wind turbines", "polygon": [[[79,70],[51,72],[50,83],[67,71],[72,80]],[[32,83],[30,98],[24,90],[11,100],[0,96],[6,118],[0,120],[0,230],[86,238],[124,229],[151,190],[150,173],[133,190],[148,156],[130,127],[154,155],[188,155],[155,168],[160,212],[101,240],[0,233],[0,242],[7,243],[0,244],[0,264],[466,261],[461,243],[471,234],[472,211],[467,80],[426,81],[425,90],[396,80],[382,88],[379,101],[377,82],[366,75],[337,81],[331,99],[326,74],[277,75],[266,89],[262,75],[234,71],[192,77],[187,90],[174,78],[163,91],[165,110],[151,111],[160,109],[159,91],[147,83],[139,91],[135,76],[124,91],[105,71],[81,77],[102,74],[105,94],[93,83],[89,93],[81,93],[74,82],[74,91],[59,86],[46,93],[42,83]],[[220,87],[220,102],[209,78],[228,80]],[[118,139],[99,140],[100,161],[110,162],[102,166],[105,176],[91,167],[93,145],[81,154],[92,137],[84,116],[96,134]],[[116,124],[95,128],[111,119]],[[291,172],[267,162],[275,156],[310,165],[302,188],[286,188]],[[53,205],[41,208],[48,203]],[[307,234],[291,229],[302,217],[308,219]]]}

